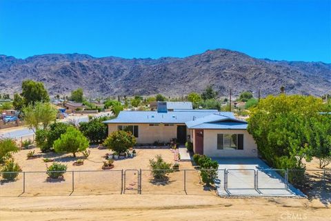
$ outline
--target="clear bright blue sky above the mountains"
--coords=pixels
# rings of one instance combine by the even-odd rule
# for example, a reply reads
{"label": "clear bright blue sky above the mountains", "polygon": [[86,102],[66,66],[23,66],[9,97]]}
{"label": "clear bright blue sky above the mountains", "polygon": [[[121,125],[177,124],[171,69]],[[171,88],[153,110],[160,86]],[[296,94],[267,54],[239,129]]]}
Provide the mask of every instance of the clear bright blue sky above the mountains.
{"label": "clear bright blue sky above the mountains", "polygon": [[0,0],[0,54],[185,57],[227,48],[331,63],[329,1]]}

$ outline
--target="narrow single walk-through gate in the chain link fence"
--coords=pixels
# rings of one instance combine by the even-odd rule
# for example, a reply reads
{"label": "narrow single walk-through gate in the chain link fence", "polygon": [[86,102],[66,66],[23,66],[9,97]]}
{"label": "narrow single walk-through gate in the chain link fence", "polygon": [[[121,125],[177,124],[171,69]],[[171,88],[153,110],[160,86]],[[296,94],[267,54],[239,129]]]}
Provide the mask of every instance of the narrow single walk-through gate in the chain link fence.
{"label": "narrow single walk-through gate in the chain link fence", "polygon": [[123,174],[123,193],[140,193],[140,173],[137,169],[127,169]]}

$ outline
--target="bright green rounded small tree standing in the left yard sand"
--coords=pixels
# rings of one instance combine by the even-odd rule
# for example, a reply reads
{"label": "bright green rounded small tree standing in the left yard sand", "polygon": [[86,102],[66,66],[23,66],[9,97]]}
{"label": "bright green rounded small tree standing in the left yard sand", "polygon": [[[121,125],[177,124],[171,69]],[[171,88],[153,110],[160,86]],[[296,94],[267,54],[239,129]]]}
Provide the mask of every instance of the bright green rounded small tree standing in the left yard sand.
{"label": "bright green rounded small tree standing in the left yard sand", "polygon": [[88,148],[88,139],[84,137],[81,131],[73,127],[68,127],[66,133],[61,135],[58,140],[54,141],[53,148],[57,153],[72,153],[76,157],[79,151],[85,151]]}

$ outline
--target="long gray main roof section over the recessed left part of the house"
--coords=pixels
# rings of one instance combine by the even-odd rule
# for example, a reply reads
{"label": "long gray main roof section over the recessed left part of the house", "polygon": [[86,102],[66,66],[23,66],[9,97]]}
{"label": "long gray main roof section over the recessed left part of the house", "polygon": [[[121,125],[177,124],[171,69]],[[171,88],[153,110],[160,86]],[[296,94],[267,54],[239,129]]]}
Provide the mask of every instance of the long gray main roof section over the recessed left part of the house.
{"label": "long gray main roof section over the recessed left part of the house", "polygon": [[219,112],[210,110],[188,110],[188,111],[171,111],[168,113],[157,113],[157,111],[121,111],[117,118],[109,119],[103,123],[106,124],[185,124],[193,119],[205,117],[212,113],[235,119],[231,112]]}

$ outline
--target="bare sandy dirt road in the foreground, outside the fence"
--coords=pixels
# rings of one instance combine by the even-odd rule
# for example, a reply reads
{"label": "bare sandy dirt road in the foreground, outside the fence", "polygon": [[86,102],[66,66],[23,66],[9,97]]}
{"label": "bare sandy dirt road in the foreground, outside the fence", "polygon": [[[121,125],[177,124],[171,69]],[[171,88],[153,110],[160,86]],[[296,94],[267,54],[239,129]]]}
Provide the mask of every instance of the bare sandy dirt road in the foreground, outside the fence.
{"label": "bare sandy dirt road in the foreground, outside the fence", "polygon": [[1,198],[0,220],[331,220],[317,200],[212,195]]}

